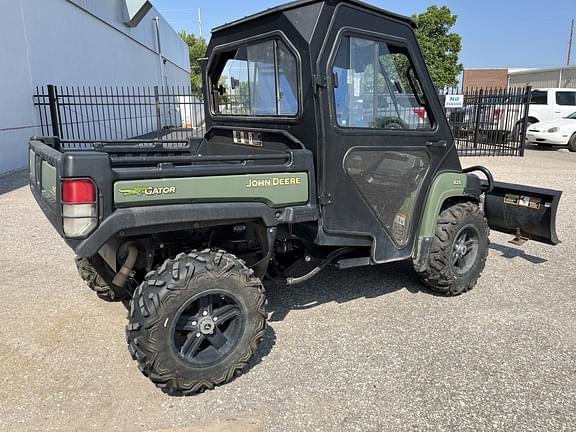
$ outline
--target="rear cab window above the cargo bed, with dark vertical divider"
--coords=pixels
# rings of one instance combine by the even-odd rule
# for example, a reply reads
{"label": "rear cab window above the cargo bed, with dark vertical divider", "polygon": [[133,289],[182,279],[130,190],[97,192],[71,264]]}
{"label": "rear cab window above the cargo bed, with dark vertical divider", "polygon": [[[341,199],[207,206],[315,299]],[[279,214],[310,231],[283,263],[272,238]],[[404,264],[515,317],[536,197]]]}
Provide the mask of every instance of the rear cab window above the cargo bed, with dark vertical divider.
{"label": "rear cab window above the cargo bed, with dark vertical divider", "polygon": [[268,40],[221,54],[211,76],[214,112],[240,116],[298,113],[298,65],[281,40]]}

